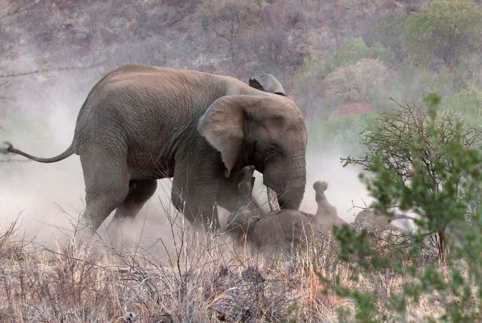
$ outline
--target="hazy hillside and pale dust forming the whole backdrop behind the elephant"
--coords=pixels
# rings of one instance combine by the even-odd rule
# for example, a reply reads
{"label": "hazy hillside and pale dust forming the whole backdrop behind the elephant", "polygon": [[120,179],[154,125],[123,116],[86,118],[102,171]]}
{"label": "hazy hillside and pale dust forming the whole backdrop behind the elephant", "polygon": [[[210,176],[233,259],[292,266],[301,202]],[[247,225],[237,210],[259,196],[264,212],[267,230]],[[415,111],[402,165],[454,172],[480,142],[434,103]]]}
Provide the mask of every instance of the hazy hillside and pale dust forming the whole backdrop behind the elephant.
{"label": "hazy hillside and pale dust forming the whole backdrop behind the elephant", "polygon": [[[436,55],[422,61],[410,46],[407,21],[428,3],[0,0],[0,140],[36,156],[63,152],[87,93],[118,65],[188,68],[242,81],[269,72],[308,125],[301,209],[315,212],[311,185],[326,180],[328,200],[351,222],[352,200],[363,205],[368,198],[359,169],[343,168],[339,157],[362,153],[358,134],[394,107],[389,96],[418,102],[424,92],[439,92],[443,109],[481,120],[480,43],[466,39],[471,45],[455,63]],[[84,207],[78,156],[50,165],[20,160],[0,155],[0,222],[21,213],[26,236],[52,240],[57,227],[68,227],[65,212],[78,216]],[[169,199],[169,185],[160,181],[131,238],[143,225],[150,238],[164,234],[159,198]]]}

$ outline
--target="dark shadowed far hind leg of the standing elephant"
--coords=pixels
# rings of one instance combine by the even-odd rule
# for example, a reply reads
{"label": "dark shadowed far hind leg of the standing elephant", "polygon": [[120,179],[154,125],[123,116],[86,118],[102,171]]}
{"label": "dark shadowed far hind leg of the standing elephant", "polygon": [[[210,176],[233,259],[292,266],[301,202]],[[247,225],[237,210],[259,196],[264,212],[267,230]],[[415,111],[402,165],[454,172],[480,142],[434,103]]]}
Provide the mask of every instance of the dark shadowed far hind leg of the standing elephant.
{"label": "dark shadowed far hind leg of the standing elephant", "polygon": [[131,180],[129,182],[129,194],[127,194],[121,205],[117,207],[114,218],[109,223],[107,230],[112,231],[114,226],[124,220],[134,220],[145,202],[154,195],[156,187],[157,180]]}

